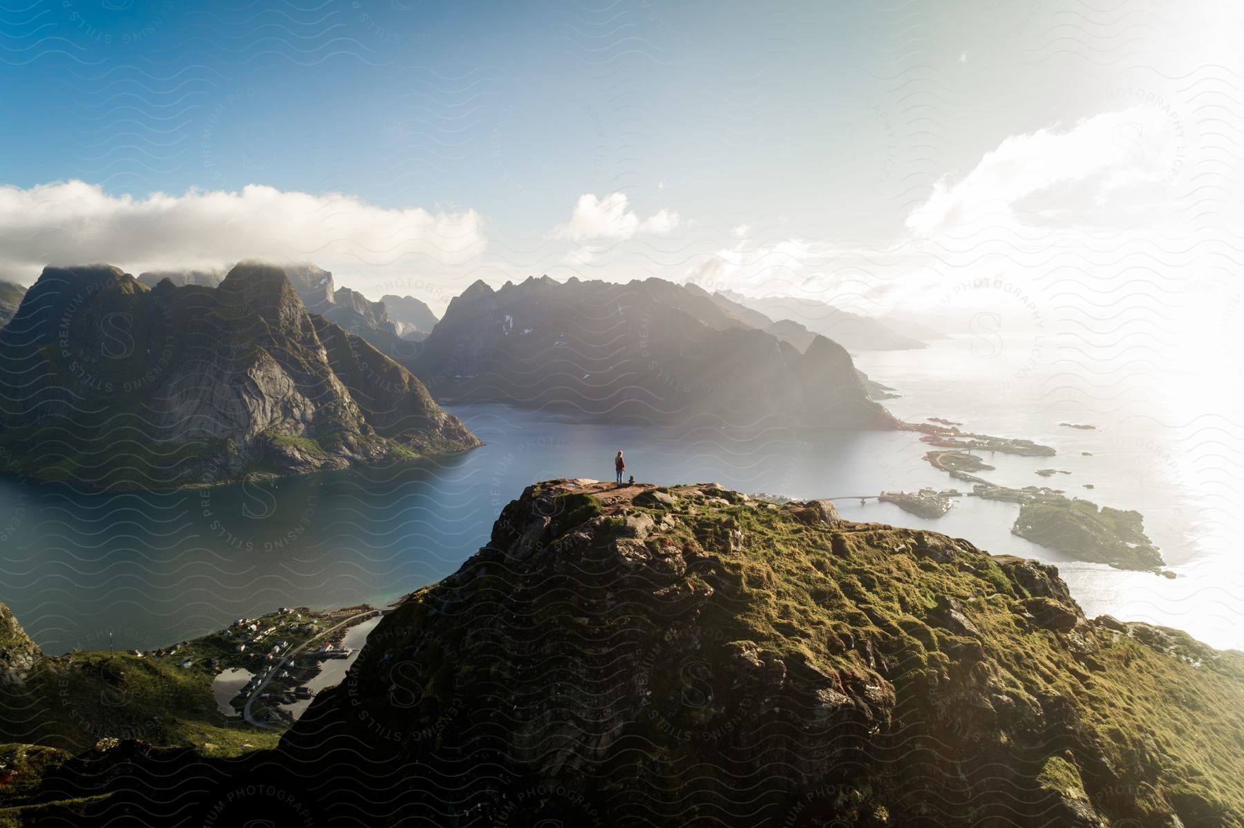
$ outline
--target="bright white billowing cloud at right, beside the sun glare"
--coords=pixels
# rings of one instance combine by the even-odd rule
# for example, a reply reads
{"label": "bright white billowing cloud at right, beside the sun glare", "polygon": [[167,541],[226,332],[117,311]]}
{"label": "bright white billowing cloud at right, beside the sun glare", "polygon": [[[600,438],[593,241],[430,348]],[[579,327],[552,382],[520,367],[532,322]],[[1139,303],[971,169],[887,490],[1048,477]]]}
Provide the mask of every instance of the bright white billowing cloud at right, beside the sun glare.
{"label": "bright white billowing cloud at right, beside the sun glare", "polygon": [[[1070,216],[1096,223],[1121,190],[1172,175],[1178,131],[1161,108],[1133,107],[1082,119],[1065,132],[1011,136],[958,182],[938,182],[907,216],[907,228],[932,236],[952,228],[1062,223]],[[1122,218],[1137,204],[1115,206]]]}

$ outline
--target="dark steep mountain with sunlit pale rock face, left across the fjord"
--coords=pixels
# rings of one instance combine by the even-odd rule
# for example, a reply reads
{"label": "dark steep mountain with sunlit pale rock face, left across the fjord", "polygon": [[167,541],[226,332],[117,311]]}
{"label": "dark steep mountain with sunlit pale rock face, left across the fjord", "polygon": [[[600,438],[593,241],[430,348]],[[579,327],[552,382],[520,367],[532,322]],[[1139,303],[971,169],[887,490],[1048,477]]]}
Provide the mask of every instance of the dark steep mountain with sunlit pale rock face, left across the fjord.
{"label": "dark steep mountain with sunlit pale rock face, left across the fjord", "polygon": [[0,332],[0,374],[9,470],[87,485],[219,482],[478,445],[408,372],[313,320],[270,265],[238,265],[216,288],[153,290],[116,267],[49,267]]}

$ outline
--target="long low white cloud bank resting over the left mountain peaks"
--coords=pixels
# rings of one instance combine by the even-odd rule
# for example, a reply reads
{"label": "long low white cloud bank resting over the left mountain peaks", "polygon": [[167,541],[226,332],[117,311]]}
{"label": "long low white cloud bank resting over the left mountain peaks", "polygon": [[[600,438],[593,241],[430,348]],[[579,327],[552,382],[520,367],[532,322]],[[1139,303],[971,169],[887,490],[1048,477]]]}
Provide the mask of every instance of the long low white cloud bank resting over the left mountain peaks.
{"label": "long low white cloud bank resting over the left mountain peaks", "polygon": [[463,265],[484,246],[474,210],[391,209],[337,193],[251,184],[132,198],[78,180],[0,186],[0,274],[26,282],[47,264],[108,262],[138,274],[260,259],[313,261],[361,276],[347,281],[382,285],[393,270]]}

